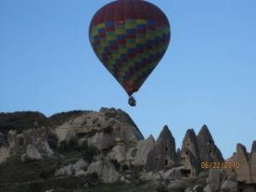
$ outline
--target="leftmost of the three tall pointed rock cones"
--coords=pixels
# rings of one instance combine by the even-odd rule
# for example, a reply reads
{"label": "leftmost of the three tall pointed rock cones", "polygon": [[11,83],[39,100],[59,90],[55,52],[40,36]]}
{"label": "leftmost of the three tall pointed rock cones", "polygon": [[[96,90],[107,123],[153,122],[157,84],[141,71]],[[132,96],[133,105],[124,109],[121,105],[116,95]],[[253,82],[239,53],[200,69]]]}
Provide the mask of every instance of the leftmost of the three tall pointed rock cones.
{"label": "leftmost of the three tall pointed rock cones", "polygon": [[175,139],[166,125],[154,143],[154,147],[148,153],[146,170],[157,172],[174,166],[176,161]]}

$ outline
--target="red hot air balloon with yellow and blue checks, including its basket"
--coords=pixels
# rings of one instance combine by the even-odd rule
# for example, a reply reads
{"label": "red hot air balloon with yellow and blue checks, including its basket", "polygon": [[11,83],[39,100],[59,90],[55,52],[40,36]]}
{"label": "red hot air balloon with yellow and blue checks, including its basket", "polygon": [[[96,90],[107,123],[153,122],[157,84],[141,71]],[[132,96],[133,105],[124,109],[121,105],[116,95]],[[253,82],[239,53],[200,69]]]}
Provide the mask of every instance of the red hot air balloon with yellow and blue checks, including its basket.
{"label": "red hot air balloon with yellow and blue checks, including its basket", "polygon": [[165,55],[171,38],[166,15],[143,0],[117,0],[96,12],[90,21],[90,44],[96,56],[136,105],[140,89]]}

